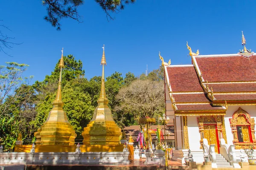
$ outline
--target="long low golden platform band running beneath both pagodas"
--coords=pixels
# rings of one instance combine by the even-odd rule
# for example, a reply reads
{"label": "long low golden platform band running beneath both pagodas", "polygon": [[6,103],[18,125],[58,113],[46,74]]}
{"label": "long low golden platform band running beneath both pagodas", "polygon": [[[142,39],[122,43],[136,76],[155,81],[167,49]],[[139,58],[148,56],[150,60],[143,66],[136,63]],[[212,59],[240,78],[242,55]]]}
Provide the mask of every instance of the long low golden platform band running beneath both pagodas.
{"label": "long low golden platform band running beneath both pagodas", "polygon": [[[32,145],[15,145],[15,152],[29,153]],[[81,145],[81,152],[122,152],[123,144],[117,145]],[[76,145],[35,145],[35,152],[75,152]]]}

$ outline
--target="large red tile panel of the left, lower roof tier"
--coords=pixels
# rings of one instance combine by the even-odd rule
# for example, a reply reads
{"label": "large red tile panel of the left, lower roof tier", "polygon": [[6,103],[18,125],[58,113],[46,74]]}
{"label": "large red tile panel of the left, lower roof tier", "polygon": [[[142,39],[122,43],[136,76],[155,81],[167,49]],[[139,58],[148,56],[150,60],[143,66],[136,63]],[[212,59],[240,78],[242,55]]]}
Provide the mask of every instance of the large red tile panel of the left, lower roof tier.
{"label": "large red tile panel of the left, lower roof tier", "polygon": [[172,92],[204,91],[200,85],[194,66],[167,67]]}

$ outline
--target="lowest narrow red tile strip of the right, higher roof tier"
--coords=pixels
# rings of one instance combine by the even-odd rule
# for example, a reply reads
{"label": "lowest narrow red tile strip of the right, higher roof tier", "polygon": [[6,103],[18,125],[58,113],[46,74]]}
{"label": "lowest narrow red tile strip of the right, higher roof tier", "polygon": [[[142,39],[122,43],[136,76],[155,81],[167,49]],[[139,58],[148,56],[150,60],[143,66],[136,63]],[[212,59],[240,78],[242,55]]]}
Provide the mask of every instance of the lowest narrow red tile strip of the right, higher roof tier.
{"label": "lowest narrow red tile strip of the right, higher roof tier", "polygon": [[214,94],[217,100],[256,100],[256,94]]}

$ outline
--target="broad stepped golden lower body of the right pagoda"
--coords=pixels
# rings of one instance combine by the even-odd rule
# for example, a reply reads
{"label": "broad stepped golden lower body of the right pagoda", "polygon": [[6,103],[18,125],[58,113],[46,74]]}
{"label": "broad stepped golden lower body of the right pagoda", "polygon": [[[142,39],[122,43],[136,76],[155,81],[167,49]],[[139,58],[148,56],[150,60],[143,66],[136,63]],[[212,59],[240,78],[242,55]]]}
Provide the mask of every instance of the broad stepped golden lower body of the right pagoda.
{"label": "broad stepped golden lower body of the right pagoda", "polygon": [[114,121],[91,121],[84,127],[84,144],[119,144],[121,129]]}

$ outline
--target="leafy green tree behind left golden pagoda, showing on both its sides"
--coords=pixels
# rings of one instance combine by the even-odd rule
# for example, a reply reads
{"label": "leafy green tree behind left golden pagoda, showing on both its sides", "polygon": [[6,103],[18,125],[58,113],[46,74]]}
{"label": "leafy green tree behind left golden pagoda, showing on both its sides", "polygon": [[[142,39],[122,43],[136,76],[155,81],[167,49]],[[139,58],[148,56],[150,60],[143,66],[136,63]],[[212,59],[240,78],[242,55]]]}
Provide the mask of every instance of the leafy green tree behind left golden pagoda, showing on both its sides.
{"label": "leafy green tree behind left golden pagoda, showing on both its sides", "polygon": [[[91,104],[91,98],[88,93],[84,93],[84,85],[87,83],[85,78],[73,79],[62,89],[62,100],[64,102],[64,111],[67,113],[67,118],[70,124],[76,130],[77,138],[81,138],[81,132],[93,116],[94,107]],[[35,131],[41,127],[46,121],[49,111],[52,109],[56,93],[47,95],[44,102],[38,104],[36,111],[38,115],[32,124],[35,126]]]}

